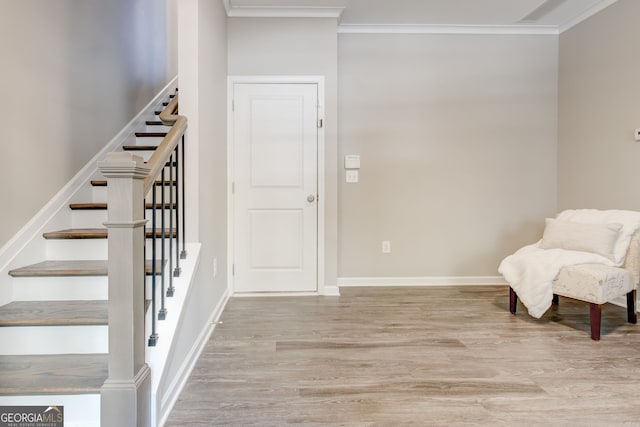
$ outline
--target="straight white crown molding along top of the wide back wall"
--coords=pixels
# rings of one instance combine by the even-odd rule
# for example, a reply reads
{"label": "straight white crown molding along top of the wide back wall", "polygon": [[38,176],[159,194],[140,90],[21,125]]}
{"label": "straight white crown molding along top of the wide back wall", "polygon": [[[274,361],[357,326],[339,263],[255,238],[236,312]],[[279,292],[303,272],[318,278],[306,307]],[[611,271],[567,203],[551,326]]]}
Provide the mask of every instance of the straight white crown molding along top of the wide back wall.
{"label": "straight white crown molding along top of the wide back wall", "polygon": [[558,35],[555,25],[339,25],[340,34]]}

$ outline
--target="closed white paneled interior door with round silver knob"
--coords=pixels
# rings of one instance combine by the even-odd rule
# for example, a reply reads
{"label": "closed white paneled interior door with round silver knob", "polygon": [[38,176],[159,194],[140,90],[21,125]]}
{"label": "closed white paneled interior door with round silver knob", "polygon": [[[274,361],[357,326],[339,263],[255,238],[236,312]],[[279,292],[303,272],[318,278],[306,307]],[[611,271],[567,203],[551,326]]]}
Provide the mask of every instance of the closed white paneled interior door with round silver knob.
{"label": "closed white paneled interior door with round silver knob", "polygon": [[234,291],[316,291],[318,87],[233,86]]}

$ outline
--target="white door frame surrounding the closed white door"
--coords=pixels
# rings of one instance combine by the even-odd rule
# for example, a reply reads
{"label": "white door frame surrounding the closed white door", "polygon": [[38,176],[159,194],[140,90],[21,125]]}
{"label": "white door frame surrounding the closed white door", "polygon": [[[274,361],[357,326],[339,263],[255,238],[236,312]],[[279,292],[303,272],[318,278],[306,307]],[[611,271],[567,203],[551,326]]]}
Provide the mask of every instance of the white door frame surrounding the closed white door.
{"label": "white door frame surrounding the closed white door", "polygon": [[[324,76],[228,76],[227,77],[227,289],[235,294],[233,264],[235,257],[235,206],[233,198],[234,170],[234,126],[233,86],[235,84],[315,84],[318,87],[318,236],[317,236],[317,290],[315,292],[291,292],[291,295],[324,295],[325,293],[325,86]],[[273,293],[272,293],[273,294]],[[277,295],[286,293],[278,292]],[[269,293],[242,293],[242,296],[269,295]],[[237,296],[237,295],[236,295]]]}

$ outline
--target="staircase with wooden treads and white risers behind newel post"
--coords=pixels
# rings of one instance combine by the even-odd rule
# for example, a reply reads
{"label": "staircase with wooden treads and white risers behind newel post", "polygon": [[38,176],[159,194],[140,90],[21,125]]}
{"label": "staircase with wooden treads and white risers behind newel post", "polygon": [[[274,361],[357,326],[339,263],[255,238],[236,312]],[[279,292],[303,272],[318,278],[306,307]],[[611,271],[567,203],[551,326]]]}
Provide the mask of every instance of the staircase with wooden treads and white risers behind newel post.
{"label": "staircase with wooden treads and white risers behind newel post", "polygon": [[[132,136],[135,143],[122,149],[135,151],[146,161],[169,129],[157,117],[149,117],[146,126]],[[42,234],[45,259],[9,271],[13,299],[0,307],[0,406],[64,406],[67,427],[100,425],[100,390],[108,376],[108,246],[103,226],[107,181],[97,170],[93,178],[86,183],[86,191],[80,192],[90,197],[68,205],[70,227]],[[157,199],[176,186],[169,180],[157,184]],[[175,221],[175,203],[156,202],[156,210],[153,207],[146,202],[146,218],[155,212],[156,224],[162,223],[161,216],[165,223],[170,216]],[[145,230],[146,298],[152,294],[151,275],[159,275],[163,266],[166,269],[169,257],[177,259],[167,239],[166,250],[155,251],[153,267],[151,239],[177,236],[175,230],[165,228],[163,233],[151,224],[149,220]],[[176,246],[174,241],[173,253]],[[165,252],[164,259],[159,258],[161,252]],[[173,275],[173,271],[166,273],[156,283],[167,282]],[[147,308],[149,305],[150,301]],[[147,317],[155,316],[147,313]]]}

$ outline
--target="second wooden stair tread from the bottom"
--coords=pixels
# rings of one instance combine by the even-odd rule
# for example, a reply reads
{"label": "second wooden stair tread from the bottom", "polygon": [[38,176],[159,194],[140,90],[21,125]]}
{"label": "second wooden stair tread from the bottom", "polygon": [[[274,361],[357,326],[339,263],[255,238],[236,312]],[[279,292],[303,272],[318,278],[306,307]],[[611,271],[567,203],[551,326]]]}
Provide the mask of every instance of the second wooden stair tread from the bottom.
{"label": "second wooden stair tread from the bottom", "polygon": [[0,307],[0,326],[106,325],[107,301],[14,301]]}

